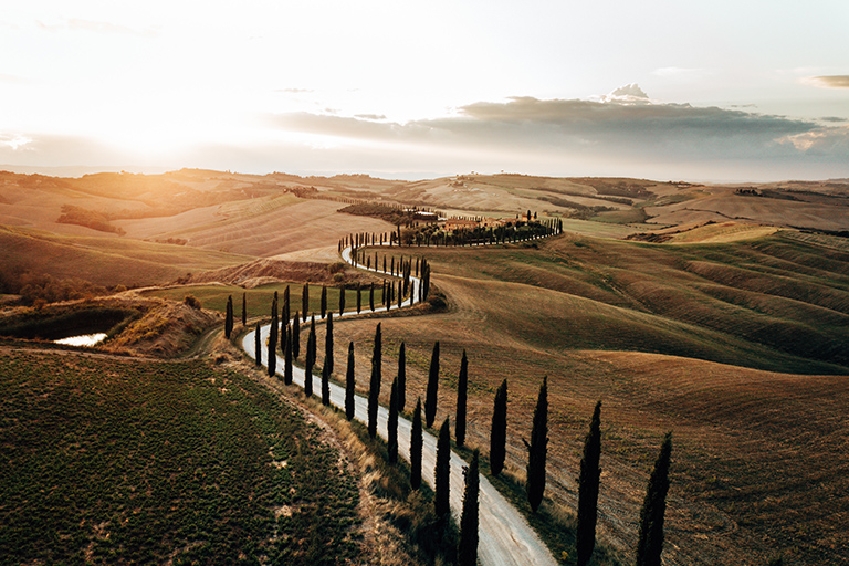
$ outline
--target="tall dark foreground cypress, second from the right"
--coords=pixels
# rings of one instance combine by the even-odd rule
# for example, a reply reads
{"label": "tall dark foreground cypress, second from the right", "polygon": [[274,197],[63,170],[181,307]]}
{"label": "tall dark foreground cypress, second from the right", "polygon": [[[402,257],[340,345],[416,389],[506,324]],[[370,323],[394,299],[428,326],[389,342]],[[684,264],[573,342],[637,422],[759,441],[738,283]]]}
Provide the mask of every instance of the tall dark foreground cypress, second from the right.
{"label": "tall dark foreground cypress, second from the right", "polygon": [[578,566],[589,564],[596,546],[596,521],[598,518],[598,489],[601,476],[601,401],[596,402],[589,431],[584,440],[584,455],[580,459],[578,476],[578,522],[575,530]]}

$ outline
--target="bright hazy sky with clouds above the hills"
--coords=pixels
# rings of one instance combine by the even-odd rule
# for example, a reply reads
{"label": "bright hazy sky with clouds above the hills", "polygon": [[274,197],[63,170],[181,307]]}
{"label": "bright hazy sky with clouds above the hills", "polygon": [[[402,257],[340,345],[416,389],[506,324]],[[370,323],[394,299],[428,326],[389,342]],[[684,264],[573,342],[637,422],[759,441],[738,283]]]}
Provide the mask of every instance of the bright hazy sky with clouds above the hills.
{"label": "bright hazy sky with clouds above the hills", "polygon": [[0,168],[849,177],[846,0],[0,4]]}

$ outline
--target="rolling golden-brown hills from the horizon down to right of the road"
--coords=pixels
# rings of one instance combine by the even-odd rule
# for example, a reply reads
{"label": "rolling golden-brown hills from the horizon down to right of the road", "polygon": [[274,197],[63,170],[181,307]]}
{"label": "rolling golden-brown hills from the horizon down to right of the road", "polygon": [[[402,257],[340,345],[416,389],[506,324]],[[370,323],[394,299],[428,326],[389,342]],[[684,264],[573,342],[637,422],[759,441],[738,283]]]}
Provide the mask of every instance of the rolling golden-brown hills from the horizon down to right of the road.
{"label": "rolling golden-brown hills from the horizon down to right of the road", "polygon": [[[548,376],[547,494],[575,507],[580,446],[602,399],[599,533],[614,549],[630,555],[657,447],[673,430],[669,564],[759,566],[776,555],[847,564],[849,537],[835,518],[849,513],[849,415],[840,403],[849,394],[845,182],[0,172],[0,292],[18,292],[28,272],[104,291],[179,280],[193,286],[145,293],[181,301],[193,291],[220,310],[228,295],[247,292],[249,312],[264,315],[286,281],[373,281],[334,266],[340,238],[396,228],[338,212],[364,200],[507,220],[532,210],[566,230],[525,244],[398,251],[428,259],[449,308],[382,319],[384,402],[401,340],[415,400],[439,339],[437,421],[453,420],[468,350],[469,443],[488,451],[492,397],[509,378],[507,463],[522,476],[522,438]],[[375,324],[338,324],[336,359],[353,340],[367,374]],[[323,344],[323,325],[318,333]],[[65,376],[62,361],[54,365]],[[117,371],[107,369],[107,377]],[[365,392],[368,379],[359,377]]]}

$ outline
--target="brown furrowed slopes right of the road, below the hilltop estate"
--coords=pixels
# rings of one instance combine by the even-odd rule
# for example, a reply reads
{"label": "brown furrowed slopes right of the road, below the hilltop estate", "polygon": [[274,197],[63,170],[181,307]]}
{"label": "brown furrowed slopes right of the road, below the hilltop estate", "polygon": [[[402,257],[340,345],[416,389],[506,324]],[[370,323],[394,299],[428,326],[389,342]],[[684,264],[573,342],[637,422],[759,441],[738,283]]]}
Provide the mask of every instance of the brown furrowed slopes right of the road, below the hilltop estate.
{"label": "brown furrowed slopes right of the road, below the hilltop estate", "polygon": [[[403,340],[408,410],[424,397],[438,339],[436,421],[453,421],[467,349],[468,444],[489,451],[494,392],[507,378],[507,463],[524,476],[522,439],[547,375],[546,495],[575,509],[583,440],[601,399],[599,535],[621,555],[632,556],[646,483],[672,430],[664,563],[849,564],[849,409],[840,401],[849,394],[849,254],[782,232],[722,244],[564,235],[403,253],[428,258],[450,303],[446,313],[381,321],[382,391]],[[363,391],[375,325],[334,328],[337,360],[356,344]]]}

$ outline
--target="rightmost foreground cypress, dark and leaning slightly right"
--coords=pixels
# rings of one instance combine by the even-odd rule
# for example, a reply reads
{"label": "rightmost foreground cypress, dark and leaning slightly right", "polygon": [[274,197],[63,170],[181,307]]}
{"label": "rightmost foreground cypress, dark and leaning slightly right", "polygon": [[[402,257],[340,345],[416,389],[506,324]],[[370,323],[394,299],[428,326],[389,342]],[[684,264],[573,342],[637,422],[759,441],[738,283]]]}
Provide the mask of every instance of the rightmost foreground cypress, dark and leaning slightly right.
{"label": "rightmost foreground cypress, dark and leaning slightly right", "polygon": [[663,552],[663,515],[669,492],[669,461],[672,454],[672,432],[667,432],[649,478],[646,500],[640,510],[640,534],[637,539],[637,566],[660,566]]}

